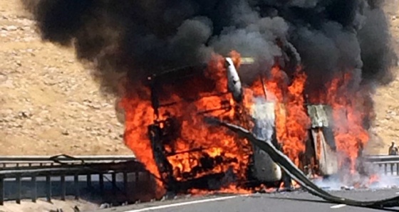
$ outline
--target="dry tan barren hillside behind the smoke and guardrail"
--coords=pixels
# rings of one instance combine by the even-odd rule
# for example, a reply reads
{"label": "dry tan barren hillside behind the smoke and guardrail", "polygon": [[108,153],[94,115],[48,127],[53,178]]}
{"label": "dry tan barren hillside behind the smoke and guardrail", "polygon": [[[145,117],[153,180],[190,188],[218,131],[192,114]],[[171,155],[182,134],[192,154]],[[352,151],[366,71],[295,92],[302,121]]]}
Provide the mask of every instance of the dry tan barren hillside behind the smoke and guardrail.
{"label": "dry tan barren hillside behind the smoke and guardrail", "polygon": [[[398,39],[398,2],[387,3]],[[114,98],[100,95],[89,73],[71,49],[41,42],[19,0],[0,0],[0,155],[132,154]],[[399,79],[375,96],[373,132],[380,139],[369,148],[374,154],[399,142],[398,88]]]}

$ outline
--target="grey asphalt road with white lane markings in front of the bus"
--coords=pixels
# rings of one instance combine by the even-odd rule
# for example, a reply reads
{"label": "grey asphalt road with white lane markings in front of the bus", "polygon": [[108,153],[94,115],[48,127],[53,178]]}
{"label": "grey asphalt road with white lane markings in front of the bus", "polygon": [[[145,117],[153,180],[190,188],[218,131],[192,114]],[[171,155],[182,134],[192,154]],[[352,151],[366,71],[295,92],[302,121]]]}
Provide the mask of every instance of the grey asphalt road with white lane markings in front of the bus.
{"label": "grey asphalt road with white lane markings in front of the bus", "polygon": [[[376,200],[399,195],[399,189],[385,190],[356,190],[356,191],[331,191],[331,194],[344,196],[357,200]],[[368,212],[368,211],[399,211],[399,208],[389,208],[377,210],[371,208],[357,208],[351,206],[326,203],[321,198],[311,196],[305,191],[294,191],[279,194],[252,194],[249,196],[207,196],[207,197],[184,197],[174,201],[161,201],[153,203],[140,203],[131,206],[109,208],[96,212],[259,212],[259,211],[348,211],[348,212]]]}

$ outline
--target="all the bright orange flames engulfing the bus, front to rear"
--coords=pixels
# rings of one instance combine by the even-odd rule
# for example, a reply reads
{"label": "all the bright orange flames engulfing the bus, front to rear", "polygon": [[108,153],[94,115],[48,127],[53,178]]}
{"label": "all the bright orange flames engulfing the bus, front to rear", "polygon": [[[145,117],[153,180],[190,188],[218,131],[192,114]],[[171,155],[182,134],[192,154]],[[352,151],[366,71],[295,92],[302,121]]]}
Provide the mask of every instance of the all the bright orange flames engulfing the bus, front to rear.
{"label": "all the bright orange flames engulfing the bus, front to rear", "polygon": [[[230,56],[238,70],[241,63],[239,53],[233,51]],[[238,139],[224,129],[209,126],[204,122],[202,114],[252,127],[252,105],[256,102],[255,98],[262,97],[275,103],[276,138],[282,151],[296,166],[307,165],[301,164],[301,155],[304,154],[306,142],[309,141],[310,127],[304,100],[306,74],[298,68],[289,79],[279,65],[274,65],[268,73],[259,73],[257,80],[244,88],[244,103],[237,104],[227,92],[224,58],[214,55],[203,75],[204,79],[193,78],[188,82],[180,82],[179,85],[162,85],[160,99],[174,103],[160,107],[160,117],[154,115],[150,89],[136,86],[121,101],[126,118],[125,143],[145,164],[148,171],[160,179],[147,126],[157,120],[168,118],[166,114],[170,114],[175,119],[178,129],[175,130],[172,142],[164,146],[166,152],[170,153],[167,160],[172,165],[172,173],[177,181],[229,170],[232,170],[239,180],[245,180],[249,157],[252,154],[249,142]],[[362,113],[362,95],[358,91],[348,92],[350,80],[351,75],[348,74],[334,78],[326,86],[326,92],[310,95],[312,102],[331,105],[333,108],[333,131],[338,152],[348,158],[351,169],[355,169],[359,149],[368,141],[368,134],[362,125],[366,115]],[[175,86],[178,88],[173,88]],[[187,95],[190,98],[187,98]],[[204,164],[204,159],[210,161],[212,166]],[[162,181],[158,181],[158,185],[162,193]],[[191,191],[201,193],[196,189]],[[222,191],[247,192],[239,189],[236,184],[230,184]]]}

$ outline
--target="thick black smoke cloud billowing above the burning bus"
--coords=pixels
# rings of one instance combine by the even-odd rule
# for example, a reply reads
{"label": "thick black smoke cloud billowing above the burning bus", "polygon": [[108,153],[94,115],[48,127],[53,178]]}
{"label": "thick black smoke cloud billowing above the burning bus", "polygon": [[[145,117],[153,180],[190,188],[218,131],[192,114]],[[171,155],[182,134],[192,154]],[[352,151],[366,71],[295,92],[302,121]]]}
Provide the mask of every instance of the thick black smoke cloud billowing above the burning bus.
{"label": "thick black smoke cloud billowing above the burning bus", "polygon": [[[378,0],[22,0],[43,40],[74,46],[97,65],[135,80],[165,68],[207,62],[212,53],[257,58],[252,72],[280,58],[301,63],[309,89],[352,71],[353,87],[389,83],[395,54]],[[281,59],[283,58],[283,59]]]}

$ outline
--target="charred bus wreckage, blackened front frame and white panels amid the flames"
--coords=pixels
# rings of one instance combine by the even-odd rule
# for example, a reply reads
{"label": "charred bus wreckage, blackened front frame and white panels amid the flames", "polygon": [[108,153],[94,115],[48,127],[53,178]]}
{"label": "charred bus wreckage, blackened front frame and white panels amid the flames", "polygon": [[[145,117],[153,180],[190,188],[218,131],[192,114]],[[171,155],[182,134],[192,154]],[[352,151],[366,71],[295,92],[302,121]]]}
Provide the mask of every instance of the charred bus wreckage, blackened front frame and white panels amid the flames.
{"label": "charred bus wreckage, blackened front frame and white panels amid the flames", "polygon": [[[245,68],[252,63],[254,63],[252,58],[242,58],[241,68]],[[217,110],[232,110],[232,105],[229,103],[229,96],[232,96],[236,105],[242,104],[243,83],[239,78],[237,69],[234,67],[232,58],[224,58],[224,67],[226,70],[228,92],[212,93],[212,95],[220,97],[221,102],[219,107],[202,110],[193,115],[207,117],[209,113]],[[175,152],[167,147],[180,136],[177,132],[179,132],[182,126],[178,123],[178,119],[174,117],[172,112],[168,110],[179,102],[168,102],[168,98],[165,98],[165,96],[170,94],[165,94],[163,88],[165,88],[165,85],[173,87],[182,80],[190,81],[190,78],[197,78],[197,76],[203,75],[206,68],[207,64],[195,65],[168,70],[148,78],[148,85],[151,90],[152,108],[156,117],[154,123],[148,126],[148,134],[152,145],[152,152],[158,170],[160,171],[160,176],[167,191],[172,194],[185,192],[190,189],[218,190],[223,186],[223,183],[216,182],[223,181],[227,173],[212,172],[209,174],[202,174],[201,172],[206,172],[204,171],[204,167],[206,166],[208,167],[207,169],[212,169],[212,166],[216,166],[218,163],[228,164],[237,162],[234,161],[234,159],[204,156],[200,159],[201,164],[196,166],[196,169],[193,168],[193,171],[190,173],[183,173],[180,174],[180,176],[176,176],[172,164],[168,159],[169,157],[176,157],[178,154],[186,154],[187,152],[201,152],[202,149],[188,149],[188,151],[185,152]],[[204,82],[203,84],[206,83],[207,82]],[[199,101],[199,99],[187,98],[185,101],[196,102]],[[274,107],[281,107],[281,105],[276,105],[275,102],[267,101],[261,103],[260,113],[268,119],[267,122],[275,121]],[[338,171],[338,164],[336,159],[336,145],[330,127],[331,112],[329,111],[329,107],[328,105],[306,105],[306,107],[309,117],[311,117],[311,128],[309,128],[311,137],[306,143],[306,154],[301,158],[301,169],[310,169],[312,173],[318,174],[318,176],[336,174]],[[165,114],[161,115],[161,111]],[[255,124],[253,132],[259,137],[262,137],[262,128],[264,128],[264,126],[257,126],[257,124]],[[271,144],[277,149],[280,149],[281,145],[277,142],[275,129],[270,129],[270,134],[272,137],[270,141]],[[270,155],[267,154],[264,149],[259,148],[257,145],[252,144],[251,149],[252,155],[250,155],[249,159],[250,163],[246,172],[247,176],[240,184],[247,188],[254,188],[260,184],[279,187],[279,185],[284,182],[286,188],[290,188],[291,179],[284,174],[285,171],[281,170],[281,166],[271,159]]]}

